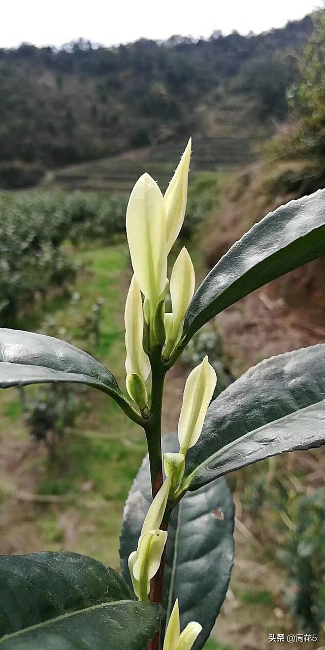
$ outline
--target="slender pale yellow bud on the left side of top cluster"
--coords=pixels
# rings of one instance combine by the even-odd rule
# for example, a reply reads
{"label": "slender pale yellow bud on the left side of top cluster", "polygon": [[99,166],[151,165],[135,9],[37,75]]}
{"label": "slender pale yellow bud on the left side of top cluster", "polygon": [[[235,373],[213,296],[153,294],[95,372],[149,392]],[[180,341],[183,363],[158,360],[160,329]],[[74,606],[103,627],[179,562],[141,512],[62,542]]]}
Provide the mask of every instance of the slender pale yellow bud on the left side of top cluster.
{"label": "slender pale yellow bud on the left side of top cluster", "polygon": [[142,346],[144,320],[140,289],[135,276],[131,279],[125,302],[124,321],[125,370],[128,375],[135,373],[145,382],[150,372],[150,363]]}

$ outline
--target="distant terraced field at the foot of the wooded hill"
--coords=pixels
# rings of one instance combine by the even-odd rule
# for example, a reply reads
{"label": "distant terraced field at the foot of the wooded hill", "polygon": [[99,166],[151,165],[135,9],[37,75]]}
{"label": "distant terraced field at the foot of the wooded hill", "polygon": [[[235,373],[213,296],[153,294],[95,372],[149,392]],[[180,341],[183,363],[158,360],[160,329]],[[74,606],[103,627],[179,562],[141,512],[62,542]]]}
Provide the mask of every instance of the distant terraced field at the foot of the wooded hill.
{"label": "distant terraced field at the foot of the wooded hill", "polygon": [[[245,136],[196,138],[193,142],[191,178],[198,172],[224,170],[253,161],[251,140]],[[129,192],[136,179],[148,171],[164,190],[185,148],[186,140],[135,149],[114,158],[49,172],[44,185],[64,190]]]}

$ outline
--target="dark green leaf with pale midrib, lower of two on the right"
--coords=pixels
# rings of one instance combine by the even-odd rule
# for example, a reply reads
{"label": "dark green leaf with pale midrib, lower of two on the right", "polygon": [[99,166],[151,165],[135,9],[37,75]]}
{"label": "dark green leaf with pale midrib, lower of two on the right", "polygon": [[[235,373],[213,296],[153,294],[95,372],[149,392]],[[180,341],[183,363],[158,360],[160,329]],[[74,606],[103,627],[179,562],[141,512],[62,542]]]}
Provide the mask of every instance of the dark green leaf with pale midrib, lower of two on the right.
{"label": "dark green leaf with pale midrib, lower of two on the right", "polygon": [[188,450],[184,487],[325,443],[325,344],[266,359],[221,393]]}

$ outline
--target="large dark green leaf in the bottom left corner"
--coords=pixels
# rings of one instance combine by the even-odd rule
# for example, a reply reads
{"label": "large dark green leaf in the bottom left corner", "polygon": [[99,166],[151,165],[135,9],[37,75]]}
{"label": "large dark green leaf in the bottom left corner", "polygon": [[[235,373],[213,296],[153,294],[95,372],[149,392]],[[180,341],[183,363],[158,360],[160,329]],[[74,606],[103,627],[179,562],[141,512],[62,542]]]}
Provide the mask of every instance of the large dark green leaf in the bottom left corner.
{"label": "large dark green leaf in the bottom left corner", "polygon": [[159,606],[77,553],[1,556],[0,578],[1,650],[142,650],[159,623]]}

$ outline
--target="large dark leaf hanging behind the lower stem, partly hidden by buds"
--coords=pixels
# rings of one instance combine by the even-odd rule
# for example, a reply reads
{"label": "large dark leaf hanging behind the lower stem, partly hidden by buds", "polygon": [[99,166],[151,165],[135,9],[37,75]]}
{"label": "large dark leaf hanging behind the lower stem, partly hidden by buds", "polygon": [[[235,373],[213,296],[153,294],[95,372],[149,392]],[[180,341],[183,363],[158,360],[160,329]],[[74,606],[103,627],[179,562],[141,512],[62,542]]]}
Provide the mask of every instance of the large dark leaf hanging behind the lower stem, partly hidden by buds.
{"label": "large dark leaf hanging behind the lower stem, partly hidden by buds", "polygon": [[[174,434],[164,436],[165,451],[177,451]],[[125,504],[120,557],[130,582],[127,558],[136,549],[151,503],[148,456]],[[226,481],[214,481],[187,493],[170,517],[166,545],[164,608],[167,617],[179,599],[182,629],[198,621],[203,630],[194,648],[203,646],[224,601],[233,564],[233,502]]]}

